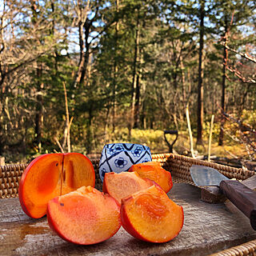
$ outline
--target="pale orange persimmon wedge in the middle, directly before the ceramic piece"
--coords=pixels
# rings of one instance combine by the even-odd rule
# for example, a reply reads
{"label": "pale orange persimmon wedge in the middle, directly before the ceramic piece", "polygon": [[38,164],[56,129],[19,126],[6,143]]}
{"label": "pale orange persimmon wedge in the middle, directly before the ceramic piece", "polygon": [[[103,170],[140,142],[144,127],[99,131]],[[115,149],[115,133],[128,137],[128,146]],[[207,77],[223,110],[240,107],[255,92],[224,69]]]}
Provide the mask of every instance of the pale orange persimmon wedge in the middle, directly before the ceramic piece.
{"label": "pale orange persimmon wedge in the middle, directly before the ceramic piece", "polygon": [[137,172],[122,172],[122,173],[106,173],[103,181],[103,192],[110,194],[119,204],[121,199],[130,194],[134,194],[139,190],[154,185],[155,183],[148,178],[141,178]]}

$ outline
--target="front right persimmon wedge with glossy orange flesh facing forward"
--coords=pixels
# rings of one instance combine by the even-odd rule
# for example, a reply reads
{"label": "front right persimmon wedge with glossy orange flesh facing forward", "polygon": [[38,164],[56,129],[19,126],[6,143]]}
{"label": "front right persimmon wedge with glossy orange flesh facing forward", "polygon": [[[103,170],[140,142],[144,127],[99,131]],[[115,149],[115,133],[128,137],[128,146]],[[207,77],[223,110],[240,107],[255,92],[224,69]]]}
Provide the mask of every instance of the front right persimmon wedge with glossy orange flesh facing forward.
{"label": "front right persimmon wedge with glossy orange flesh facing forward", "polygon": [[146,242],[168,242],[182,230],[184,214],[158,186],[151,186],[122,199],[121,221],[134,238]]}

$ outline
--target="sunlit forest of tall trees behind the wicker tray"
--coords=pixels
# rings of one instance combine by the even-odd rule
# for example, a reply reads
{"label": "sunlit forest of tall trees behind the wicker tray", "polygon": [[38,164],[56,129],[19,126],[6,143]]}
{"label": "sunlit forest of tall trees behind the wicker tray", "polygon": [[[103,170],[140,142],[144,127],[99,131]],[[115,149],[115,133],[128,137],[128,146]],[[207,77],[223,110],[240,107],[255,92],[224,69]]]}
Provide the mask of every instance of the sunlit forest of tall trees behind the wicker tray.
{"label": "sunlit forest of tall trees behind the wicker tray", "polygon": [[[0,155],[109,142],[254,159],[254,1],[2,0]],[[170,138],[171,139],[171,138]],[[58,145],[59,144],[59,145]],[[216,149],[216,150],[214,150]]]}

